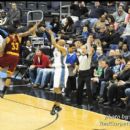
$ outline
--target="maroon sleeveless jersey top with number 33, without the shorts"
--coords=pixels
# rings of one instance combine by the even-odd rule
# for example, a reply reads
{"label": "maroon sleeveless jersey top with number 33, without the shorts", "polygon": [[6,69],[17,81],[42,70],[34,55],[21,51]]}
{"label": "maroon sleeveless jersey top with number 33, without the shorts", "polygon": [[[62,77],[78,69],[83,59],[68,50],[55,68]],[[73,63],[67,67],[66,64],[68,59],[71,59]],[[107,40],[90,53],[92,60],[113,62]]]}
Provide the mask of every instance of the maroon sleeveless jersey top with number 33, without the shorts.
{"label": "maroon sleeveless jersey top with number 33, without the shorts", "polygon": [[7,37],[5,53],[12,52],[19,54],[21,39],[18,35],[10,35]]}

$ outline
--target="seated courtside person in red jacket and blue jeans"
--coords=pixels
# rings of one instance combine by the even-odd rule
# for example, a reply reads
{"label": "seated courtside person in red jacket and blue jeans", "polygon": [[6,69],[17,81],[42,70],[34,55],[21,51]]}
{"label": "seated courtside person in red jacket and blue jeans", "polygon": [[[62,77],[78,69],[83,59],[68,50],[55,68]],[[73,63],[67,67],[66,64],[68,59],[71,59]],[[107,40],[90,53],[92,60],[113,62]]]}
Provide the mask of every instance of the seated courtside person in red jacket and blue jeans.
{"label": "seated courtside person in red jacket and blue jeans", "polygon": [[33,64],[29,68],[29,75],[32,82],[35,82],[37,76],[37,68],[48,68],[50,64],[49,58],[43,54],[42,49],[38,49],[36,52]]}

